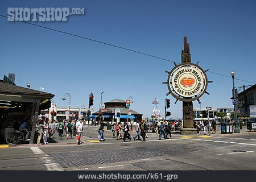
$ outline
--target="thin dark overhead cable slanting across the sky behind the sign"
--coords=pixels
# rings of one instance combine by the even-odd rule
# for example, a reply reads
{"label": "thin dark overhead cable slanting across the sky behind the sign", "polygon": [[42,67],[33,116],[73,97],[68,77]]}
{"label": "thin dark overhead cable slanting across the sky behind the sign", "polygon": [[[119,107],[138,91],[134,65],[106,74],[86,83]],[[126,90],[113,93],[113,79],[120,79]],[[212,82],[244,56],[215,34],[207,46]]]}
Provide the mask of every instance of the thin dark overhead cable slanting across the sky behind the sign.
{"label": "thin dark overhead cable slanting across the sky behind the sign", "polygon": [[[0,14],[0,16],[1,16],[2,18],[10,18],[10,17],[7,17],[7,16],[5,16],[5,15],[1,15],[1,14]],[[11,18],[11,19],[14,19],[14,18]],[[14,19],[14,20],[16,20],[16,19]],[[107,45],[107,46],[112,46],[112,47],[115,47],[115,48],[124,49],[124,50],[126,50],[126,51],[131,51],[131,52],[139,53],[139,54],[141,54],[141,55],[150,56],[150,57],[154,57],[154,58],[156,58],[156,59],[160,59],[160,60],[164,60],[164,61],[169,61],[169,62],[175,63],[175,61],[171,61],[171,60],[168,60],[168,59],[164,59],[164,58],[159,57],[159,56],[150,55],[150,54],[148,54],[148,53],[135,51],[135,50],[133,50],[133,49],[129,49],[129,48],[121,47],[121,46],[116,46],[116,45],[114,45],[114,44],[109,44],[109,43],[105,43],[105,42],[102,42],[102,41],[99,41],[99,40],[86,38],[86,37],[84,37],[84,36],[80,36],[80,35],[76,35],[76,34],[71,34],[71,33],[68,33],[68,32],[61,31],[61,30],[56,30],[56,29],[54,29],[54,28],[49,28],[49,27],[40,26],[40,25],[34,24],[34,23],[24,22],[24,21],[20,21],[20,20],[18,20],[18,21],[19,21],[19,22],[22,22],[22,23],[30,24],[30,25],[32,25],[32,26],[36,26],[36,27],[40,27],[40,28],[45,28],[45,29],[47,29],[47,30],[52,30],[52,31],[60,32],[60,33],[62,33],[62,34],[75,36],[75,37],[77,37],[77,38],[90,40],[90,41],[92,41],[92,42],[97,42],[97,43],[105,44],[105,45]],[[213,74],[216,74],[216,75],[220,75],[220,76],[232,78],[232,77],[230,77],[230,76],[222,75],[222,74],[220,74],[220,73],[215,73],[215,72],[211,72],[211,71],[209,71],[209,72],[210,72],[210,73],[213,73]],[[247,80],[242,80],[242,79],[239,79],[239,78],[235,78],[235,79],[236,79],[236,80],[240,80],[240,81],[249,82],[249,83],[251,83],[251,84],[255,84],[255,83],[256,83],[256,82],[254,82],[254,81],[247,81]]]}

